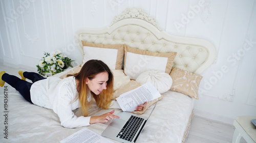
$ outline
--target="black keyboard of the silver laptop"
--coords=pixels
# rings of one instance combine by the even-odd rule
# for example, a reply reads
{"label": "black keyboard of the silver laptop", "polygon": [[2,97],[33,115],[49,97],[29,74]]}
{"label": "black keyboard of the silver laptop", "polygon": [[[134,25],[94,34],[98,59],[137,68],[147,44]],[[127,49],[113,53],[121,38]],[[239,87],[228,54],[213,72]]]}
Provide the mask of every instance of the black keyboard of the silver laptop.
{"label": "black keyboard of the silver laptop", "polygon": [[143,120],[143,118],[131,116],[116,137],[132,141]]}

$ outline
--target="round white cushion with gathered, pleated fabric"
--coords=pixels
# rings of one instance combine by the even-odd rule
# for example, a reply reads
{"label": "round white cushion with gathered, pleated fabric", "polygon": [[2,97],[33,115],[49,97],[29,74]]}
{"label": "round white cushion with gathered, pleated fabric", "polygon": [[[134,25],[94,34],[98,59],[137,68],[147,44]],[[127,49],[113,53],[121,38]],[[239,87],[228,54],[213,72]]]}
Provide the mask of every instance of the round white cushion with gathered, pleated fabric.
{"label": "round white cushion with gathered, pleated fabric", "polygon": [[156,70],[141,73],[136,81],[142,84],[151,82],[160,94],[167,92],[173,84],[173,79],[169,74]]}

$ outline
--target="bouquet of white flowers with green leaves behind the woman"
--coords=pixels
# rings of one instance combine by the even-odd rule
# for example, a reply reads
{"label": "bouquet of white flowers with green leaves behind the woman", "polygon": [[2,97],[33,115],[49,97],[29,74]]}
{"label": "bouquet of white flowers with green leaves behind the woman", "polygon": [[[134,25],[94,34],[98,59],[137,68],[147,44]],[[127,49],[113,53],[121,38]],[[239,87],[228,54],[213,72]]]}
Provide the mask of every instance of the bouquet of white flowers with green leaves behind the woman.
{"label": "bouquet of white flowers with green leaves behind the woman", "polygon": [[66,55],[56,50],[52,54],[45,52],[45,57],[42,57],[39,64],[36,65],[37,71],[42,76],[51,76],[64,71],[68,67],[72,67],[71,62],[74,60],[69,59]]}

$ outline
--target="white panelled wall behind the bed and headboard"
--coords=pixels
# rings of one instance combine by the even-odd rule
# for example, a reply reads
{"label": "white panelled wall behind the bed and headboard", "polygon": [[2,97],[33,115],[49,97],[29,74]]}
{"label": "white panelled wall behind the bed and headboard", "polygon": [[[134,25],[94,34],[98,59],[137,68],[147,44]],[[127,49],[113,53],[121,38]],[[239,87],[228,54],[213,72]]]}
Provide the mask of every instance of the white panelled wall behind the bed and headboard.
{"label": "white panelled wall behind the bed and headboard", "polygon": [[161,30],[215,45],[216,61],[202,74],[196,115],[230,124],[237,116],[256,115],[255,0],[0,2],[0,63],[6,66],[36,71],[44,51],[56,49],[79,64],[78,28],[103,28],[127,7],[142,8]]}

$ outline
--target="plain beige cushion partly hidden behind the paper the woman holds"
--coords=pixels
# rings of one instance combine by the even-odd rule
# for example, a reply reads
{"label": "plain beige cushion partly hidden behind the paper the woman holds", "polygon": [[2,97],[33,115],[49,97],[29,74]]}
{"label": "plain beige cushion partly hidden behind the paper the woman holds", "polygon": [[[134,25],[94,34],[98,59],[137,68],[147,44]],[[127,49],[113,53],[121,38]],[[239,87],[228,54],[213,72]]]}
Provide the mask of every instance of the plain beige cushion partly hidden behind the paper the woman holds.
{"label": "plain beige cushion partly hidden behind the paper the woman holds", "polygon": [[[118,89],[116,92],[114,92],[114,97],[113,99],[116,100],[117,97],[119,97],[121,94],[129,92],[133,89],[136,89],[138,87],[140,87],[140,85],[142,85],[141,83],[135,81],[135,80],[131,80],[128,84],[124,85],[123,87],[121,87],[120,89]],[[159,100],[162,99],[163,96],[161,95],[159,97]],[[157,102],[158,98],[152,101],[148,101],[147,104],[145,105],[145,107],[143,108],[142,111],[133,111],[132,113],[136,113],[138,115],[141,115],[142,113],[144,113],[146,111],[146,109],[148,107],[150,107],[151,105],[153,105],[155,102]]]}

